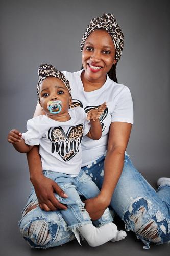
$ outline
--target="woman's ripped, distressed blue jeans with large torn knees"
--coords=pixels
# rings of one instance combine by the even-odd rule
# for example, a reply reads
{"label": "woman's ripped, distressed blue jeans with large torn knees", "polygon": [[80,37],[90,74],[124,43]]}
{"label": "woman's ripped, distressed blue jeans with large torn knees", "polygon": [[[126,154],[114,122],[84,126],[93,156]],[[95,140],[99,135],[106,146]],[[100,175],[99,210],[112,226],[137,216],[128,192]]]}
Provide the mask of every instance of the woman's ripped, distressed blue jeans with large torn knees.
{"label": "woman's ripped, distressed blue jeans with large torn knees", "polygon": [[[102,156],[82,168],[99,189],[104,178],[104,160],[105,156]],[[35,194],[34,190],[32,193]],[[25,214],[34,204],[37,207]],[[163,244],[170,241],[170,183],[156,192],[135,169],[127,154],[111,207],[126,223],[126,229],[134,231],[143,241],[143,248],[149,249],[150,242]],[[58,246],[75,239],[72,231],[66,231],[67,224],[60,211],[41,211],[36,195],[23,210],[19,226],[22,236],[36,248]]]}

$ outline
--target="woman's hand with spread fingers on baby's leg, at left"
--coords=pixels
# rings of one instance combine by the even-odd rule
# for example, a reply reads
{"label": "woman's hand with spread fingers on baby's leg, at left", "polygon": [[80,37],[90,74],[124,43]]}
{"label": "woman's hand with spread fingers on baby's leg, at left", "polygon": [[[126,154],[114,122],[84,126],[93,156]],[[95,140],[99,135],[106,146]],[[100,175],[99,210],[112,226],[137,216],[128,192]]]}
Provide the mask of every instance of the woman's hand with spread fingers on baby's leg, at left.
{"label": "woman's hand with spread fingers on baby's leg, at left", "polygon": [[55,181],[40,175],[37,179],[31,180],[31,182],[38,198],[39,207],[42,210],[55,211],[57,209],[67,209],[54,195],[54,192],[56,192],[61,197],[68,197]]}

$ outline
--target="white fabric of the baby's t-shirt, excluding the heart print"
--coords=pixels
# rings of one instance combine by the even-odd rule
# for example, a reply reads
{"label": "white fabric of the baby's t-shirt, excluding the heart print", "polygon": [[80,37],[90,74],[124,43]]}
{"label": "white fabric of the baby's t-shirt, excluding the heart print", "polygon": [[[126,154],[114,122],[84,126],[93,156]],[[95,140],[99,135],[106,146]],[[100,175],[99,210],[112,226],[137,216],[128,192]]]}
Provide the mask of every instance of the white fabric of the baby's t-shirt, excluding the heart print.
{"label": "white fabric of the baby's t-shirt, excluding the heart print", "polygon": [[[82,108],[69,109],[70,120],[66,122],[58,122],[47,115],[37,116],[28,120],[27,122],[27,132],[22,134],[22,138],[25,140],[25,143],[31,146],[39,145],[39,154],[41,155],[42,169],[51,170],[54,172],[61,172],[65,174],[70,174],[77,176],[81,169],[82,163],[82,149],[81,143],[77,147],[76,154],[67,161],[64,161],[63,158],[59,155],[56,150],[52,152],[52,137],[51,132],[56,127],[63,129],[65,134],[69,134],[69,131],[72,127],[83,124],[83,134],[86,135],[90,130],[90,122],[87,121],[86,113]],[[74,132],[76,134],[76,132]],[[68,142],[63,140],[61,136],[60,140],[63,140],[64,143]],[[66,144],[65,144],[66,145]],[[61,151],[60,151],[61,152]]]}

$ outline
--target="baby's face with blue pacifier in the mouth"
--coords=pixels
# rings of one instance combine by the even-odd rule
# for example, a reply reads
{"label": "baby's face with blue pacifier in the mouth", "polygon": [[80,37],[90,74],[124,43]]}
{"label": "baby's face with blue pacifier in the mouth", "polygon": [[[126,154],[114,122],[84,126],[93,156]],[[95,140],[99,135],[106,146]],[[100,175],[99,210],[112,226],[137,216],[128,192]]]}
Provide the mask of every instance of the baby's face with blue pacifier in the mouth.
{"label": "baby's face with blue pacifier in the mouth", "polygon": [[[47,77],[40,84],[40,105],[47,115],[67,114],[71,105],[71,96],[65,84],[56,77]],[[61,102],[53,104],[53,102]]]}

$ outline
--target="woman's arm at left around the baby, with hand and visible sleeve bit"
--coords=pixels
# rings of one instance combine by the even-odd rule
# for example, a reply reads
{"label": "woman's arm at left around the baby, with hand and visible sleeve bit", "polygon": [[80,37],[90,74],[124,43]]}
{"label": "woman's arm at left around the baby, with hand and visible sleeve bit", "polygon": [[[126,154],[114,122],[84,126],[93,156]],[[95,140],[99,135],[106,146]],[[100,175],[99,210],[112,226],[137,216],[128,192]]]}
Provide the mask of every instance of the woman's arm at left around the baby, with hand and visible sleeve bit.
{"label": "woman's arm at left around the baby, with hand and visible sleeve bit", "polygon": [[[43,115],[41,106],[38,103],[34,117],[38,115]],[[38,152],[38,146],[34,146],[30,152],[27,153],[27,160],[30,171],[30,180],[34,186],[35,193],[39,202],[41,209],[46,211],[56,210],[56,209],[67,209],[66,206],[61,204],[55,197],[54,192],[56,192],[61,197],[67,197],[64,191],[57,185],[57,183],[47,177],[42,173],[41,158]]]}

